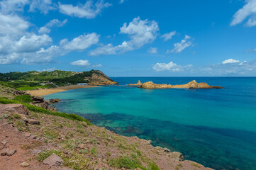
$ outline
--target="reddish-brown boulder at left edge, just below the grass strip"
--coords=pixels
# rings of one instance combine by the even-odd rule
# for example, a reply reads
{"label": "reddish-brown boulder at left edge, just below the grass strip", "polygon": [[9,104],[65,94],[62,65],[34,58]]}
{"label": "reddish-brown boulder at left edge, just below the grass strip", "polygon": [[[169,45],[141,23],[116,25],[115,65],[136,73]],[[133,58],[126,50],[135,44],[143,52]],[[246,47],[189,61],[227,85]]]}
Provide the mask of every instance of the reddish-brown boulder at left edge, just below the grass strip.
{"label": "reddish-brown boulder at left edge, just below the grass strip", "polygon": [[28,109],[21,104],[0,104],[0,113],[13,113],[28,115]]}

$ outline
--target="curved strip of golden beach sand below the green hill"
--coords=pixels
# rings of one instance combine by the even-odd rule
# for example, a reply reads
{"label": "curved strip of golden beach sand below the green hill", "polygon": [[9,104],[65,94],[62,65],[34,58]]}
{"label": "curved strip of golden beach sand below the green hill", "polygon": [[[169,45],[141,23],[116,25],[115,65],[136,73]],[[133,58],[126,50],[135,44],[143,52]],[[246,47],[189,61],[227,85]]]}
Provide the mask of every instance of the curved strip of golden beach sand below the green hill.
{"label": "curved strip of golden beach sand below the green hill", "polygon": [[62,86],[57,87],[54,89],[38,89],[38,90],[32,90],[32,91],[26,91],[31,96],[45,96],[48,94],[54,94],[61,91],[67,91],[72,89],[82,89],[82,88],[91,88],[96,86],[80,86],[80,85],[70,85],[70,86]]}

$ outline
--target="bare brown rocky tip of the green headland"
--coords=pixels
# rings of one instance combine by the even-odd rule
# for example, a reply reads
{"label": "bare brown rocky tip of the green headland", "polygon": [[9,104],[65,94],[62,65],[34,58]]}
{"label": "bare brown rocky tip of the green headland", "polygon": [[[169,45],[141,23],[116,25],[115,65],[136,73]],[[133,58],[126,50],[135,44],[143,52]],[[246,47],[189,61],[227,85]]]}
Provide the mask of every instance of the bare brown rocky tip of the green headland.
{"label": "bare brown rocky tip of the green headland", "polygon": [[89,81],[90,82],[88,84],[93,86],[118,84],[118,82],[113,81],[99,70],[91,74]]}

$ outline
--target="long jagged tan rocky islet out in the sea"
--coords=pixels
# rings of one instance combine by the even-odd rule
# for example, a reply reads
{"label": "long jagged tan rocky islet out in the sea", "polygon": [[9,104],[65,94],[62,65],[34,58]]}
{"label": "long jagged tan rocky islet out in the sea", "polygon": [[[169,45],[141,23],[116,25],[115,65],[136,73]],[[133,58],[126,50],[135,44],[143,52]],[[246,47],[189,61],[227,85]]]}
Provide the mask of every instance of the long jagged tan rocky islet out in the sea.
{"label": "long jagged tan rocky islet out in the sea", "polygon": [[128,84],[129,86],[138,86],[141,89],[223,89],[222,86],[211,86],[206,83],[197,83],[196,80],[190,81],[187,84],[172,85],[172,84],[154,84],[152,81],[141,83],[140,80],[138,84]]}

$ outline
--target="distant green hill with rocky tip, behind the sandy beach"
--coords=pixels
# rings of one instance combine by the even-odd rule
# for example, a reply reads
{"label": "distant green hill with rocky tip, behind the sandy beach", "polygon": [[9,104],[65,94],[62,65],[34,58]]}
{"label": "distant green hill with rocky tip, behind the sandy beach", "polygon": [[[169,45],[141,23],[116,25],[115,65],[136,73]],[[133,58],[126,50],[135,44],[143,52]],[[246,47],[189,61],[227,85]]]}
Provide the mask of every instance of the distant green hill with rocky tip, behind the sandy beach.
{"label": "distant green hill with rocky tip, behind the sandy beach", "polygon": [[88,83],[90,85],[117,84],[99,70],[89,72],[72,72],[55,70],[52,72],[9,72],[0,73],[0,85],[19,90],[33,90],[67,86],[69,84]]}

